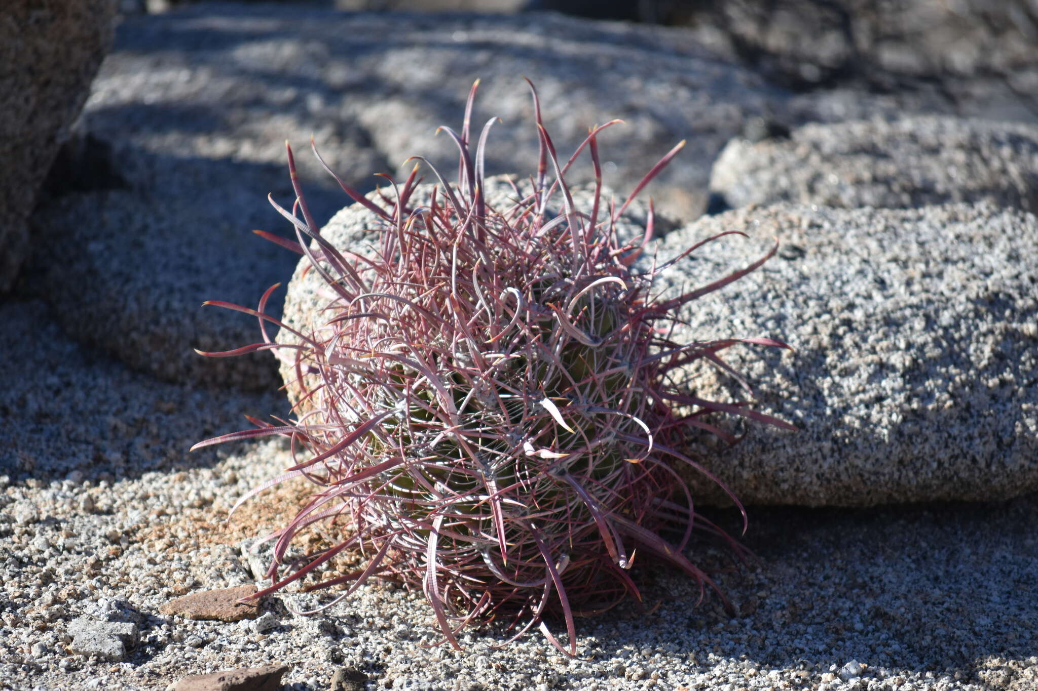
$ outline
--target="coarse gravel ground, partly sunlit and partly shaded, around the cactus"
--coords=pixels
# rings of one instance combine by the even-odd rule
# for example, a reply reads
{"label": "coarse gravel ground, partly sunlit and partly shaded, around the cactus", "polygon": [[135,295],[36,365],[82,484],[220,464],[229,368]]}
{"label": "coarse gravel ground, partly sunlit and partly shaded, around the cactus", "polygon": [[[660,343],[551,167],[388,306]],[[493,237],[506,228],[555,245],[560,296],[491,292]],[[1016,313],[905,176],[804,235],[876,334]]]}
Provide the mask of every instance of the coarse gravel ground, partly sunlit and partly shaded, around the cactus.
{"label": "coarse gravel ground, partly sunlit and partly shaded, around the cactus", "polygon": [[[0,358],[15,364],[0,380],[2,689],[164,689],[268,663],[291,665],[291,689],[327,689],[343,666],[368,689],[1038,688],[1038,495],[752,508],[745,543],[758,560],[717,575],[739,616],[716,598],[696,605],[684,578],[644,563],[644,604],[579,620],[574,660],[536,632],[496,651],[508,636],[495,626],[473,629],[463,653],[430,647],[438,636],[420,595],[381,583],[308,617],[289,607],[313,596],[268,599],[263,625],[161,615],[171,597],[253,582],[242,541],[291,515],[303,488],[271,491],[229,522],[227,512],[283,467],[286,449],[187,448],[283,402],[130,372],[66,339],[37,301],[0,305]],[[734,515],[715,518],[737,527]],[[725,568],[708,545],[692,550]],[[77,654],[84,615],[132,623],[121,626],[139,642],[111,659]]]}

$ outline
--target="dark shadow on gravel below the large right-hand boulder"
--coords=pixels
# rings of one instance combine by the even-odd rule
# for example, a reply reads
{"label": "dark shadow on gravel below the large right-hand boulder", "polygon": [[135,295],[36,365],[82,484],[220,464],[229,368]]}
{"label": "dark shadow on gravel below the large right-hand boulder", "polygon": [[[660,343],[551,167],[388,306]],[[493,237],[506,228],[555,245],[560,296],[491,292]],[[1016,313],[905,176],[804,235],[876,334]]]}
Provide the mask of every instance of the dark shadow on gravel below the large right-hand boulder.
{"label": "dark shadow on gravel below the large right-hand boulder", "polygon": [[[676,644],[701,665],[716,655],[817,673],[857,660],[1000,689],[1015,688],[1013,672],[991,679],[991,660],[1038,656],[1038,494],[1004,503],[750,508],[749,516],[744,544],[759,560],[718,575],[739,616],[725,614],[716,597],[693,606],[694,584],[646,568],[646,602],[659,607],[627,607],[626,622],[591,620],[584,631],[636,647]],[[721,522],[739,529],[735,516]],[[716,566],[719,556],[708,549],[701,562]]]}

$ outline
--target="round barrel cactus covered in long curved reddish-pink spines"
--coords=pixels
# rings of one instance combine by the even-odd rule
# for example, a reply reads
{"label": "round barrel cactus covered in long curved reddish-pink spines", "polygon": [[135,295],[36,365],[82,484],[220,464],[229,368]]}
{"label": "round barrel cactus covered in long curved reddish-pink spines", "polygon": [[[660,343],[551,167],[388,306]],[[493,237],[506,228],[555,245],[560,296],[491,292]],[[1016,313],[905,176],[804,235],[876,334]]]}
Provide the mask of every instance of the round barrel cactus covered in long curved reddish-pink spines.
{"label": "round barrel cactus covered in long curved reddish-pink spines", "polygon": [[[540,165],[530,192],[516,185],[507,203],[492,205],[484,197],[484,153],[494,120],[474,147],[469,137],[477,85],[461,132],[442,127],[459,149],[456,181],[416,156],[438,180],[418,204],[418,165],[403,183],[387,178],[368,198],[336,176],[371,213],[378,251],[365,256],[322,236],[289,149],[297,199],[291,211],[271,203],[298,242],[256,232],[304,255],[325,284],[327,305],[311,327],[292,328],[265,313],[277,286],[257,310],[207,303],[258,317],[263,342],[202,354],[274,350],[288,365],[282,371],[293,373],[285,384],[295,392],[296,419],[270,425],[250,418],[255,429],[196,448],[291,437],[291,467],[238,506],[296,477],[317,487],[269,537],[276,541],[272,585],[255,597],[304,577],[307,591],[339,586],[346,597],[378,576],[421,589],[441,642],[458,646],[466,625],[504,617],[513,640],[540,625],[552,644],[574,655],[575,615],[637,596],[629,572],[636,552],[682,569],[701,596],[709,586],[728,606],[684,553],[693,518],[723,534],[694,515],[674,469],[687,463],[707,472],[682,453],[682,440],[690,428],[730,438],[709,413],[790,426],[742,404],[701,400],[671,383],[668,373],[700,358],[723,366],[717,353],[737,343],[787,346],[770,339],[677,343],[670,335],[680,306],[756,269],[775,248],[698,290],[656,298],[653,280],[664,266],[636,263],[653,234],[652,204],[635,241],[621,241],[616,224],[684,142],[618,205],[602,198],[596,138],[619,121],[593,128],[562,162],[530,84]],[[583,151],[595,189],[590,207],[577,208],[565,178]],[[268,324],[280,327],[277,341]],[[337,543],[285,559],[313,524]],[[359,552],[363,566],[329,571],[344,550]],[[565,620],[568,645],[543,624],[549,611]]]}

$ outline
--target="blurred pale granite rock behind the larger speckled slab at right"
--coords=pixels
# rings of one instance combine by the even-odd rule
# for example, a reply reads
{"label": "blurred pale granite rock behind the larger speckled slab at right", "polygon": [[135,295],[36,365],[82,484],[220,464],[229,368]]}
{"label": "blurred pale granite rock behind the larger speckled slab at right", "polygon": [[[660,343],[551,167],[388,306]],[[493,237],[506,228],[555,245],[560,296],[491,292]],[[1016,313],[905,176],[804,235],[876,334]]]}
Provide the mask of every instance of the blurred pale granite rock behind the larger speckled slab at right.
{"label": "blurred pale granite rock behind the larger speckled slab at right", "polygon": [[807,124],[789,138],[733,139],[714,163],[710,190],[733,207],[990,199],[1038,212],[1038,126],[936,116]]}

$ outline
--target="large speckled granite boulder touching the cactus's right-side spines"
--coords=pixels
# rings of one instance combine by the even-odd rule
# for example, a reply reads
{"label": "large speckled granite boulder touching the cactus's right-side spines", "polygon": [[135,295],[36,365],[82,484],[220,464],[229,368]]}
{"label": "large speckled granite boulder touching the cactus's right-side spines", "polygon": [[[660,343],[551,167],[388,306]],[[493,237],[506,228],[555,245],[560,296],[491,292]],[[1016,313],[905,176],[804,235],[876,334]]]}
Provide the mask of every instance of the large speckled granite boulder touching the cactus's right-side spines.
{"label": "large speckled granite boulder touching the cactus's right-side spines", "polygon": [[[868,506],[1002,499],[1038,489],[1038,219],[993,205],[916,210],[777,205],[704,218],[664,237],[696,251],[661,285],[758,271],[689,305],[679,338],[770,336],[796,350],[726,351],[754,407],[800,428],[743,426],[735,447],[690,438],[750,503]],[[719,370],[703,398],[744,399]],[[719,494],[696,480],[702,491]]]}

